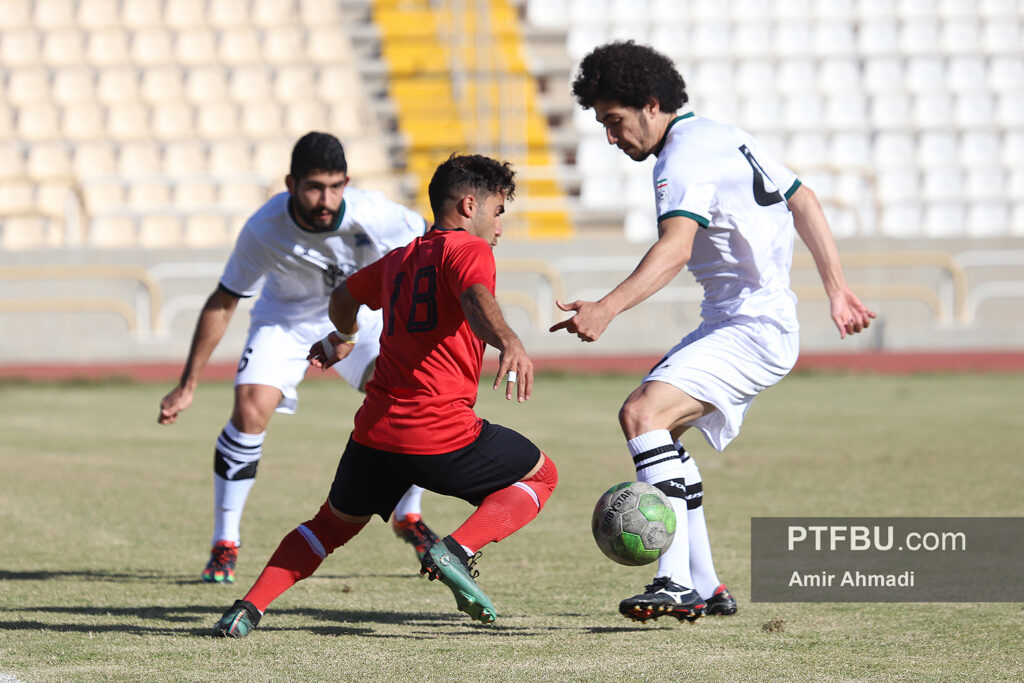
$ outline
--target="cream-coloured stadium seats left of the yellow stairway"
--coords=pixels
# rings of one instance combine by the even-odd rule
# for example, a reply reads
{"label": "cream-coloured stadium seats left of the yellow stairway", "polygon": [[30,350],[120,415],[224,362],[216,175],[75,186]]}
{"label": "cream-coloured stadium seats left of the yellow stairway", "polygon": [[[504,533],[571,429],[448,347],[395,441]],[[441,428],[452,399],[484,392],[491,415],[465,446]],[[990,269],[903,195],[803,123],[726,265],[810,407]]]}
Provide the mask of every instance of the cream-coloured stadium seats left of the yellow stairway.
{"label": "cream-coloured stadium seats left of the yellow stairway", "polygon": [[400,190],[339,4],[5,2],[3,247],[226,248],[311,129],[353,141],[357,183]]}

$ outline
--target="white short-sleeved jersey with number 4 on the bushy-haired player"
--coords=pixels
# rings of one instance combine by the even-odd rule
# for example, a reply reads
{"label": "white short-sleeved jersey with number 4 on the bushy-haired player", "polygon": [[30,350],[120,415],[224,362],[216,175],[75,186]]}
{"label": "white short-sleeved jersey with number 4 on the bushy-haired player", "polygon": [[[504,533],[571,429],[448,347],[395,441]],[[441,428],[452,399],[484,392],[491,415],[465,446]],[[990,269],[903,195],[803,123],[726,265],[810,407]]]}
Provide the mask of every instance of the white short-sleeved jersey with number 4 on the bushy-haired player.
{"label": "white short-sleeved jersey with number 4 on the bushy-haired player", "polygon": [[795,332],[785,200],[800,186],[796,174],[745,131],[688,113],[669,125],[653,178],[658,221],[700,225],[687,267],[705,289],[703,319],[768,318]]}

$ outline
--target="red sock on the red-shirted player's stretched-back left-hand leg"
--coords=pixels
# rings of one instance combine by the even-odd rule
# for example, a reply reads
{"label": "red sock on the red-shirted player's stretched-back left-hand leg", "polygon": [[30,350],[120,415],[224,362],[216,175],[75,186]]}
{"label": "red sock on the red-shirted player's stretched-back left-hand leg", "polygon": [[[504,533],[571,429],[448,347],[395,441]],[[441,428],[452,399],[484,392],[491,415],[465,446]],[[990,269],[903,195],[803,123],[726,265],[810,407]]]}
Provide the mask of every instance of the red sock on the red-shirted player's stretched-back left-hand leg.
{"label": "red sock on the red-shirted player's stretched-back left-hand leg", "polygon": [[311,575],[325,557],[348,543],[365,525],[338,519],[324,503],[315,517],[282,539],[245,599],[260,612],[266,611],[279,595]]}

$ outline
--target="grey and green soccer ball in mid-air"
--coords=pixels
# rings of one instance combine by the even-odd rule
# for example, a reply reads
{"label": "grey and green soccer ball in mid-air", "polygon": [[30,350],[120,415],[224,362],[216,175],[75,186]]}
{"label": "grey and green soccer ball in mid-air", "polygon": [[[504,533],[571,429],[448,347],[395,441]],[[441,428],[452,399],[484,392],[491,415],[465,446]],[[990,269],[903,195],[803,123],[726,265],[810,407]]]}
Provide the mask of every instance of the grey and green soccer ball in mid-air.
{"label": "grey and green soccer ball in mid-air", "polygon": [[676,512],[649,483],[624,481],[598,499],[591,530],[601,552],[620,564],[649,564],[672,545]]}

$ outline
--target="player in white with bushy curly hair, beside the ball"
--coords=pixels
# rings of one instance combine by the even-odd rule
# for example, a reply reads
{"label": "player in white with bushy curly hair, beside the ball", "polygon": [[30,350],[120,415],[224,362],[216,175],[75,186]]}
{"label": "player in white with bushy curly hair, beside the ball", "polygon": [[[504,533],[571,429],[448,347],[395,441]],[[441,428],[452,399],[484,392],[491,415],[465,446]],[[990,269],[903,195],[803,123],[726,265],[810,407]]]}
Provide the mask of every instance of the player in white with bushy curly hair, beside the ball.
{"label": "player in white with bushy curly hair, beside the ball", "polygon": [[715,571],[700,474],[681,435],[695,427],[723,450],[755,396],[796,364],[794,231],[814,257],[840,336],[867,328],[874,313],[847,287],[810,188],[744,131],[685,112],[686,85],[668,57],[632,41],[600,46],[581,62],[572,94],[594,110],[609,144],[634,161],[657,158],[658,239],[601,300],[559,302],[573,315],[551,331],[595,341],[683,266],[705,289],[700,326],[669,350],[618,414],[637,479],[665,492],[677,518],[653,582],[618,610],[637,621],[735,613]]}

